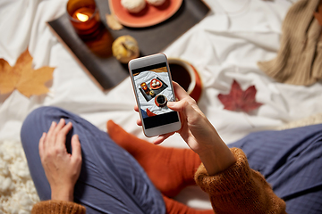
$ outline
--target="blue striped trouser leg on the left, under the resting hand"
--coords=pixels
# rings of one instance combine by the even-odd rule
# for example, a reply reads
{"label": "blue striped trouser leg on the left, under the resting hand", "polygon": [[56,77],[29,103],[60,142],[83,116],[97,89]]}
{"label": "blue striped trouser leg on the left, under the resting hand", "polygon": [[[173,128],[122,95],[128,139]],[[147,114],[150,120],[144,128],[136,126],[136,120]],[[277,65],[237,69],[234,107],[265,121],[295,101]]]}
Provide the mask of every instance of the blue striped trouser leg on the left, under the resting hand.
{"label": "blue striped trouser leg on the left, under the resting hand", "polygon": [[68,152],[72,135],[80,136],[82,165],[74,201],[85,206],[87,213],[165,213],[161,193],[131,154],[85,119],[55,107],[32,111],[21,128],[22,146],[41,201],[49,200],[51,191],[39,158],[38,142],[51,122],[61,118],[72,122],[66,142]]}

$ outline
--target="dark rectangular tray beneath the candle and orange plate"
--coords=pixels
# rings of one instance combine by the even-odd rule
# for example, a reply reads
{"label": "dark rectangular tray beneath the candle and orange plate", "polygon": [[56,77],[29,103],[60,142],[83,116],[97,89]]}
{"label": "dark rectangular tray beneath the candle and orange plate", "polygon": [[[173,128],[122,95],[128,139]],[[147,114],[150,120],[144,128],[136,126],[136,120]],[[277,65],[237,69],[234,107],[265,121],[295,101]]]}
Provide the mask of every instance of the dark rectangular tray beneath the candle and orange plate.
{"label": "dark rectangular tray beneath the candle and orange plate", "polygon": [[[97,6],[106,29],[106,13],[110,13],[107,0],[97,0]],[[177,37],[201,21],[209,12],[208,6],[201,0],[183,0],[181,7],[166,21],[148,28],[129,28],[121,30],[108,29],[112,37],[131,35],[140,46],[140,56],[162,52]],[[68,20],[67,13],[48,25],[56,37],[70,50],[83,70],[102,90],[117,86],[129,76],[126,64],[118,62],[113,56],[101,58],[92,53],[88,46],[78,37]]]}

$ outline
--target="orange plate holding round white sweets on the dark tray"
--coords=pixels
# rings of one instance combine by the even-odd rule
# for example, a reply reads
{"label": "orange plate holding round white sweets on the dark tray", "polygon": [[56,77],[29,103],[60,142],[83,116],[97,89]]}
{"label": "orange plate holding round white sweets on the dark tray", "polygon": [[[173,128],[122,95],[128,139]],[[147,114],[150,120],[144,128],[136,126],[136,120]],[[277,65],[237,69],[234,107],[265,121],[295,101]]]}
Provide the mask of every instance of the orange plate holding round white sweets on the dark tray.
{"label": "orange plate holding round white sweets on the dark tray", "polygon": [[182,0],[165,0],[160,6],[146,4],[139,13],[128,12],[121,0],[108,0],[111,12],[117,17],[121,24],[131,28],[145,28],[156,25],[169,19],[182,5]]}

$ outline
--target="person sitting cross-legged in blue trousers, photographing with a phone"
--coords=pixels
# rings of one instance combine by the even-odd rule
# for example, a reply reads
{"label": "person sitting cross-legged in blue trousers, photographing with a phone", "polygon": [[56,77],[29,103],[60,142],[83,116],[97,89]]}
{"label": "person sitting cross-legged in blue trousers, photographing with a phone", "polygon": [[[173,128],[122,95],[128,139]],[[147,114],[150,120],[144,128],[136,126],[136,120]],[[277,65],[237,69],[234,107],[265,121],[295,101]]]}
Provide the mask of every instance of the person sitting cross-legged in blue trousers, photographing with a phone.
{"label": "person sitting cross-legged in blue trousers, photographing with a phone", "polygon": [[[169,102],[168,107],[181,113],[179,133],[193,152],[154,146],[111,121],[107,136],[86,120],[55,107],[31,112],[21,128],[21,141],[44,201],[34,206],[33,213],[84,213],[85,208],[87,213],[285,213],[285,202],[275,193],[286,201],[288,213],[321,210],[321,176],[312,170],[322,166],[317,150],[321,125],[250,134],[231,144],[247,153],[249,166],[244,152],[226,146],[182,87],[174,83],[174,91],[179,101]],[[159,136],[155,144],[171,135]],[[313,161],[302,158],[308,155]],[[254,169],[267,178],[275,193]],[[165,173],[169,170],[182,176],[171,177]],[[211,212],[192,210],[169,198],[191,185],[191,171],[196,172],[196,183],[209,193]],[[305,184],[301,184],[302,174],[307,175]]]}

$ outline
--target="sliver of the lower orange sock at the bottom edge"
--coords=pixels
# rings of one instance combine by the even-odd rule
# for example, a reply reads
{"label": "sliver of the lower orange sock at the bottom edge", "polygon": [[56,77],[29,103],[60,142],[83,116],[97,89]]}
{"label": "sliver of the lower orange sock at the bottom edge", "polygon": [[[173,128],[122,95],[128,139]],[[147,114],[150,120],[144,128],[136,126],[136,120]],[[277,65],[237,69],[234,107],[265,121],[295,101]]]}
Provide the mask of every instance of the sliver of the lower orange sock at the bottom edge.
{"label": "sliver of the lower orange sock at the bottom edge", "polygon": [[214,214],[214,210],[194,210],[193,208],[184,205],[181,202],[176,202],[173,199],[163,195],[165,201],[166,214]]}

